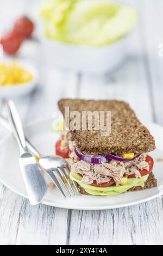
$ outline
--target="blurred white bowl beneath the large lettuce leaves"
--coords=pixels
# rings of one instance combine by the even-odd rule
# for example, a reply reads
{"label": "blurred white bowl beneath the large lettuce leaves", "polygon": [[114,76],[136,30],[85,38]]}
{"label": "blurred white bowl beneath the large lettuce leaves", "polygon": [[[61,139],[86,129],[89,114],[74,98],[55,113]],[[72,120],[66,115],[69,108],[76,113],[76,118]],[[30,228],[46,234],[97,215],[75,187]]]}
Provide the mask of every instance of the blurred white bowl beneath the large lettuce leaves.
{"label": "blurred white bowl beneath the large lettuce leaves", "polygon": [[104,74],[114,69],[126,56],[128,36],[108,46],[87,47],[41,39],[51,64],[77,72]]}

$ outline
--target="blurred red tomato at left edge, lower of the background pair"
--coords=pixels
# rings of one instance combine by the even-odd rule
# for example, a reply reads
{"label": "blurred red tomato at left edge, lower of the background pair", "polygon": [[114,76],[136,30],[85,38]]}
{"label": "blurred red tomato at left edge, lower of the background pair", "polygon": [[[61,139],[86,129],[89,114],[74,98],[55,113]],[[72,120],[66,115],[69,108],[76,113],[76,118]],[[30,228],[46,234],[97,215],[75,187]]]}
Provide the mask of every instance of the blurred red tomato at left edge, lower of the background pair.
{"label": "blurred red tomato at left edge, lower of the background pair", "polygon": [[3,50],[7,54],[14,54],[20,48],[22,38],[16,31],[9,32],[2,36],[0,44],[3,46]]}

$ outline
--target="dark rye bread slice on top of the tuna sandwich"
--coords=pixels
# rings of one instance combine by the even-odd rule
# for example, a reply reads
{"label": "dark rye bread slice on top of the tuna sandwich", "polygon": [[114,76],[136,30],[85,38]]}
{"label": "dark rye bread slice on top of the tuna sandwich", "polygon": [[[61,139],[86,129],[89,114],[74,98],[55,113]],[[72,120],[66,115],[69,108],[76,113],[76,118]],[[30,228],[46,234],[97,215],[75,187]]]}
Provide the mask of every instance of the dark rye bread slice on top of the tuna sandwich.
{"label": "dark rye bread slice on top of the tuna sandwich", "polygon": [[71,111],[111,111],[111,135],[103,137],[100,131],[72,131],[79,151],[86,154],[147,153],[155,149],[154,138],[137,119],[128,103],[117,100],[61,99],[58,106]]}

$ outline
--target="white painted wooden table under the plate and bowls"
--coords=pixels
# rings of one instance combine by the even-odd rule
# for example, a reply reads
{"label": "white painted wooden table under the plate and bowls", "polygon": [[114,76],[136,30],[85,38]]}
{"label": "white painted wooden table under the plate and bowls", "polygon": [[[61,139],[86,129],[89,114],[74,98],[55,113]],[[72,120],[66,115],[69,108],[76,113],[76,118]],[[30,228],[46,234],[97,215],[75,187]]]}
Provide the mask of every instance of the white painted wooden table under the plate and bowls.
{"label": "white painted wooden table under the plate and bowls", "polygon": [[[0,35],[22,13],[36,16],[39,0],[0,0]],[[141,120],[163,125],[162,0],[121,1],[140,11],[139,25],[127,45],[128,58],[106,76],[88,76],[48,65],[41,46],[26,42],[19,58],[40,71],[39,88],[16,99],[24,123],[52,117],[60,97],[126,100]],[[7,132],[0,128],[0,138]],[[14,169],[13,169],[14,172]],[[2,245],[162,245],[162,199],[123,209],[77,211],[31,206],[0,184]]]}

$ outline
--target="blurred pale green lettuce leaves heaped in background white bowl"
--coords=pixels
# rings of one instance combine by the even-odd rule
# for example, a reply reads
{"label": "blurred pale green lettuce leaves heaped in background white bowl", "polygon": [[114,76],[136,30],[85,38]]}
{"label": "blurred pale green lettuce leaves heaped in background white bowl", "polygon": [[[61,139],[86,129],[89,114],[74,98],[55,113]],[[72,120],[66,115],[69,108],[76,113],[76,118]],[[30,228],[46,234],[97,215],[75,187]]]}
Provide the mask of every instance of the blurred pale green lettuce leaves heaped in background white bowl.
{"label": "blurred pale green lettuce leaves heaped in background white bowl", "polygon": [[40,16],[49,39],[104,46],[127,35],[138,14],[132,7],[109,0],[47,0]]}

